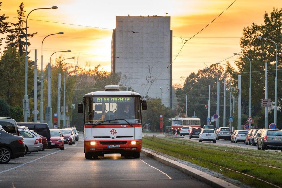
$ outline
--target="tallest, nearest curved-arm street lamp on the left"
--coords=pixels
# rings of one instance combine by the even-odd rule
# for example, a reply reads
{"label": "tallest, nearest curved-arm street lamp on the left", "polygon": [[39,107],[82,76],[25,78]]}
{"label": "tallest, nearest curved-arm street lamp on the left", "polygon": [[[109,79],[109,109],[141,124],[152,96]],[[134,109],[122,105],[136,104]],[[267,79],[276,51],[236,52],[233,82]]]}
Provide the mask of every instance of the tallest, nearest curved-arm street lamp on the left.
{"label": "tallest, nearest curved-arm street lamp on the left", "polygon": [[[49,8],[37,8],[37,9],[33,9],[32,11],[29,12],[29,14],[31,12],[33,12],[34,10],[39,10],[39,9],[57,9],[57,6],[52,6]],[[27,18],[29,16],[29,14],[27,15]],[[27,20],[26,20],[26,27],[25,27],[25,98],[24,98],[24,122],[27,122]]]}

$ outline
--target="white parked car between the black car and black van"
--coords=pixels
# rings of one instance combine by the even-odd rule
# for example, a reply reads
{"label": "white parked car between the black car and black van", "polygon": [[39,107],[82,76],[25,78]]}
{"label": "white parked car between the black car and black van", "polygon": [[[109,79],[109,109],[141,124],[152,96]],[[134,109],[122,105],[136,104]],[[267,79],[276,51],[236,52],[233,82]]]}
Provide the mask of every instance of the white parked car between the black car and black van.
{"label": "white parked car between the black car and black van", "polygon": [[38,146],[37,136],[31,134],[29,131],[19,129],[20,135],[24,137],[25,154],[38,151],[42,148]]}

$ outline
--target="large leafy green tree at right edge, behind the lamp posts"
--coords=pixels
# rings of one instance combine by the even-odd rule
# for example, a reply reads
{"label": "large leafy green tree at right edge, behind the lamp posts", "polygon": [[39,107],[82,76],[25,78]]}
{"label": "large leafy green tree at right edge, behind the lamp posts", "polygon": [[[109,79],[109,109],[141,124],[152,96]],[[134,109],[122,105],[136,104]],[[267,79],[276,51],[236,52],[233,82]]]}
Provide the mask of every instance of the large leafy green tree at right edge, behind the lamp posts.
{"label": "large leafy green tree at right edge, behind the lamp posts", "polygon": [[[264,69],[265,63],[268,63],[268,98],[274,101],[275,91],[275,64],[276,64],[276,47],[275,44],[269,40],[258,40],[257,36],[262,36],[275,41],[278,47],[278,54],[281,54],[281,29],[282,29],[282,9],[275,9],[268,15],[264,13],[264,24],[252,23],[243,30],[243,36],[240,39],[240,46],[243,50],[242,54],[249,57],[251,60],[251,94],[252,94],[252,117],[259,122],[257,125],[264,125],[264,121],[255,116],[261,115],[261,99],[264,98]],[[278,68],[281,68],[281,56],[278,56]],[[244,56],[238,57],[235,65],[238,67],[242,75],[242,82],[249,82],[249,60]],[[279,75],[278,75],[279,76]],[[277,89],[277,106],[281,106],[282,92],[281,92],[281,78],[278,78]],[[242,100],[249,102],[249,84],[242,84]],[[263,108],[264,109],[264,108]],[[281,124],[277,121],[277,124]]]}

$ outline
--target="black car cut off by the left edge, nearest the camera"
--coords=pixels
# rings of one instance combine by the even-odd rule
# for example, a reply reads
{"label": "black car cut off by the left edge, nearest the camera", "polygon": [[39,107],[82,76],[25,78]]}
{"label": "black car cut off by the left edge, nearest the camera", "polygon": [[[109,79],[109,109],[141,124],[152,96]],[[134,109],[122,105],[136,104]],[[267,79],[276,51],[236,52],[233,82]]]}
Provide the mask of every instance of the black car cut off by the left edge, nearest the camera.
{"label": "black car cut off by the left edge, nearest the camera", "polygon": [[0,163],[25,155],[25,144],[22,136],[12,135],[0,130]]}

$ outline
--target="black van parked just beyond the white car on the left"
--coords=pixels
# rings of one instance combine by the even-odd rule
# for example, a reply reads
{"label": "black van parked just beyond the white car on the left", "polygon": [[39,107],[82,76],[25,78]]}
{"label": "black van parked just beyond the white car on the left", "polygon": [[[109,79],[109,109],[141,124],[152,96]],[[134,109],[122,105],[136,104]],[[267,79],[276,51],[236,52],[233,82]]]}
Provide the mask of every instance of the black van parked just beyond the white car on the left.
{"label": "black van parked just beyond the white car on the left", "polygon": [[47,123],[23,122],[23,123],[17,123],[17,125],[26,126],[29,128],[29,130],[33,130],[37,134],[41,136],[45,136],[47,138],[48,146],[50,146],[51,144],[50,129]]}

